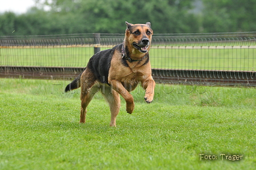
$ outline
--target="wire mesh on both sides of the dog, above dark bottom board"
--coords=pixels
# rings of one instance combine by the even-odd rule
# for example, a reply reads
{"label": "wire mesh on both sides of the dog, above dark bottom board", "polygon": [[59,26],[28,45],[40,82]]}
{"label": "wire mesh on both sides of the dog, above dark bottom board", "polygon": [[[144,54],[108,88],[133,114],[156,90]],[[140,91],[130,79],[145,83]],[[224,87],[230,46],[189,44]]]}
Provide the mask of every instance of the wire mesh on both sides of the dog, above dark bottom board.
{"label": "wire mesh on both sides of the dog, above dark bottom board", "polygon": [[[123,34],[0,37],[1,66],[85,67],[94,51],[122,43]],[[256,33],[154,34],[152,68],[254,71]],[[95,50],[96,49],[96,50]]]}

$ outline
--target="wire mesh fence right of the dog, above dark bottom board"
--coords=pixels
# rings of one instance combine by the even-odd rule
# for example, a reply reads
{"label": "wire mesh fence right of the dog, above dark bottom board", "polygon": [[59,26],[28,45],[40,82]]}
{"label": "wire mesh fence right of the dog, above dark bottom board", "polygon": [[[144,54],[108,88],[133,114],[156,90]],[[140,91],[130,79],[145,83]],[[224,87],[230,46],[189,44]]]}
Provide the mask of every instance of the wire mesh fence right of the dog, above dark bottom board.
{"label": "wire mesh fence right of the dog, above dark bottom board", "polygon": [[192,70],[255,69],[255,33],[160,34],[154,37],[154,67]]}

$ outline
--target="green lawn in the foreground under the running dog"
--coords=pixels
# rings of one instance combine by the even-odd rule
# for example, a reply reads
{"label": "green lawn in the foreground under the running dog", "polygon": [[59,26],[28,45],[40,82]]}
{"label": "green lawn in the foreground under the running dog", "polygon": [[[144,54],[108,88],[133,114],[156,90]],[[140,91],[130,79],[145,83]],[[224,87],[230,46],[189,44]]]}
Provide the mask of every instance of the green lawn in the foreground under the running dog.
{"label": "green lawn in the foreground under the running dog", "polygon": [[1,79],[1,170],[255,169],[255,88],[158,84],[151,104],[138,88],[134,113],[122,99],[113,128],[100,94],[79,124],[79,90],[63,94],[68,83]]}

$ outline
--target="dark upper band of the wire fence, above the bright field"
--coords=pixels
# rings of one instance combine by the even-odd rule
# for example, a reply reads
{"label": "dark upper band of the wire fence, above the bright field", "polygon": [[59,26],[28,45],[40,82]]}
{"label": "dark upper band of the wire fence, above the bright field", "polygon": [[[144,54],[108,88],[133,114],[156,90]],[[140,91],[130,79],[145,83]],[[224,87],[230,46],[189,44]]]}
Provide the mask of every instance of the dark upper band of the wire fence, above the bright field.
{"label": "dark upper band of the wire fence, above the bright field", "polygon": [[[115,45],[122,43],[123,34],[67,34],[67,35],[32,35],[0,36],[1,46],[61,46],[70,44]],[[253,46],[256,44],[256,32],[246,33],[198,33],[198,34],[154,34],[153,45],[166,46]]]}

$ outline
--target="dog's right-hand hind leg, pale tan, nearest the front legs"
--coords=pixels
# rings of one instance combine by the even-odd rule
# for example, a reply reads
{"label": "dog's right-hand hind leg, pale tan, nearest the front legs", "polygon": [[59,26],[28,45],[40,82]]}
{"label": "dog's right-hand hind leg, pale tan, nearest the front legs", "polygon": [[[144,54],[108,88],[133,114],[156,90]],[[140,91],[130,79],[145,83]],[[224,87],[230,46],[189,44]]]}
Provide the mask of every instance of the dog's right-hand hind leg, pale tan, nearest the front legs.
{"label": "dog's right-hand hind leg, pale tan, nearest the front legs", "polygon": [[110,87],[104,87],[105,89],[102,91],[102,95],[109,103],[110,112],[111,112],[111,120],[110,126],[115,127],[115,120],[120,110],[120,96],[118,92],[111,89]]}

